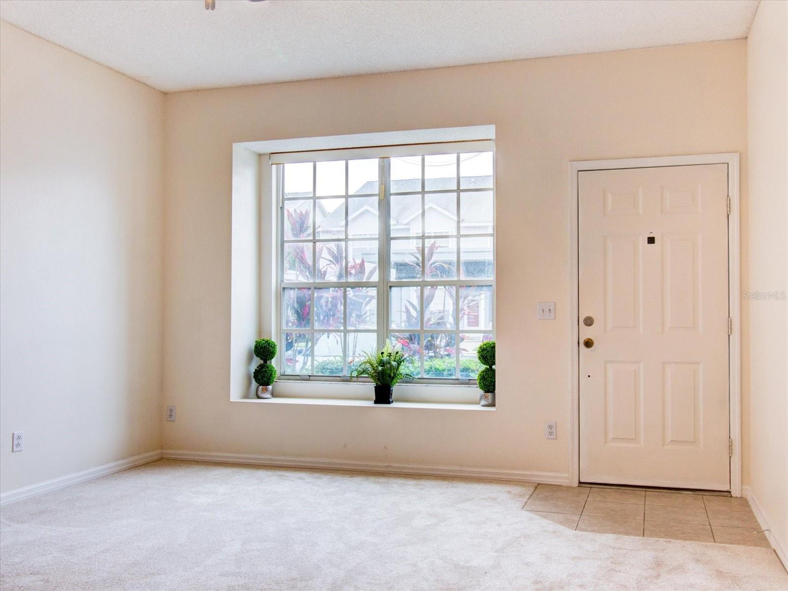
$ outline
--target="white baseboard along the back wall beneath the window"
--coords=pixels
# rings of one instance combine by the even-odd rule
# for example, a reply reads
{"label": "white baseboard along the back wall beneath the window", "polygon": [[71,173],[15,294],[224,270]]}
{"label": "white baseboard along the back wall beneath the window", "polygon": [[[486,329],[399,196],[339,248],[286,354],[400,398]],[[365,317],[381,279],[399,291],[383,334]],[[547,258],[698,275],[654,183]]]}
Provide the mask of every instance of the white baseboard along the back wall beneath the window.
{"label": "white baseboard along the back wall beneath the window", "polygon": [[291,456],[258,456],[248,453],[189,452],[165,449],[162,457],[169,460],[190,460],[220,464],[254,464],[255,466],[307,468],[310,470],[340,470],[376,472],[382,474],[450,476],[479,478],[482,480],[508,480],[515,482],[540,482],[569,486],[569,475],[560,472],[498,470],[496,468],[471,468],[462,466],[419,466],[416,464],[385,464],[358,460],[330,460],[328,458],[299,458]]}

